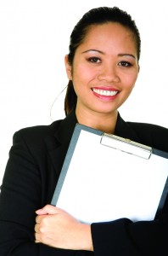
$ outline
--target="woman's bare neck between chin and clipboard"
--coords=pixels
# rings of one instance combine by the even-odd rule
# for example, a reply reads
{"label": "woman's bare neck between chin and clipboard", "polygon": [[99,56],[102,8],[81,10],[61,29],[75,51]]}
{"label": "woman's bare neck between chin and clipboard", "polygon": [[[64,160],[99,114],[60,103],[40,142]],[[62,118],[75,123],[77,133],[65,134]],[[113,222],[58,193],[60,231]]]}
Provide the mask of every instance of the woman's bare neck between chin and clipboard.
{"label": "woman's bare neck between chin and clipboard", "polygon": [[114,113],[95,113],[76,108],[76,118],[79,124],[87,125],[106,133],[115,132],[117,115],[117,111]]}

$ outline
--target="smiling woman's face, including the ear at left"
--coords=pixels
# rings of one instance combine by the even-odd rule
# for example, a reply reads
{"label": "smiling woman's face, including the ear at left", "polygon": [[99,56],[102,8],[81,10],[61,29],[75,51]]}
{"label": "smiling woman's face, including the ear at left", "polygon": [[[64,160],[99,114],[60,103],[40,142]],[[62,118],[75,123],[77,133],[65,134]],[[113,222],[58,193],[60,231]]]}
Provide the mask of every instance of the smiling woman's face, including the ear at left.
{"label": "smiling woman's face, including the ear at left", "polygon": [[114,113],[126,101],[137,79],[137,48],[132,32],[119,23],[91,26],[76,49],[73,66],[65,57],[78,110]]}

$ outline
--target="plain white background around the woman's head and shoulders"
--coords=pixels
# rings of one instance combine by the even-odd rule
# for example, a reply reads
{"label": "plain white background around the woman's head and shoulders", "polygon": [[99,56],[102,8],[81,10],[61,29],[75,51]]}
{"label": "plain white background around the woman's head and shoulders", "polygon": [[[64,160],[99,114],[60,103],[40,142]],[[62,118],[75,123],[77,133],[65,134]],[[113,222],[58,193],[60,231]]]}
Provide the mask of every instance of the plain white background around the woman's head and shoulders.
{"label": "plain white background around the woman's head and shoulders", "polygon": [[130,13],[142,38],[139,77],[122,117],[168,127],[165,0],[0,0],[0,183],[14,131],[64,118],[64,94],[53,102],[68,83],[70,32],[87,10],[105,5]]}

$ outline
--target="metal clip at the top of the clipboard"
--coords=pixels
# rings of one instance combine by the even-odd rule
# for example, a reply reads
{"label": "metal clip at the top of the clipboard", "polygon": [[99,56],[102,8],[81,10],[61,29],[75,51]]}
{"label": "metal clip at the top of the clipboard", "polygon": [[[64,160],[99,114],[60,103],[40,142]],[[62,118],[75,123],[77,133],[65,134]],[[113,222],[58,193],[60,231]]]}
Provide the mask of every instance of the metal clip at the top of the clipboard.
{"label": "metal clip at the top of the clipboard", "polygon": [[148,160],[152,154],[151,147],[105,132],[101,137],[100,143],[104,146],[119,149],[120,151],[139,156],[146,160]]}

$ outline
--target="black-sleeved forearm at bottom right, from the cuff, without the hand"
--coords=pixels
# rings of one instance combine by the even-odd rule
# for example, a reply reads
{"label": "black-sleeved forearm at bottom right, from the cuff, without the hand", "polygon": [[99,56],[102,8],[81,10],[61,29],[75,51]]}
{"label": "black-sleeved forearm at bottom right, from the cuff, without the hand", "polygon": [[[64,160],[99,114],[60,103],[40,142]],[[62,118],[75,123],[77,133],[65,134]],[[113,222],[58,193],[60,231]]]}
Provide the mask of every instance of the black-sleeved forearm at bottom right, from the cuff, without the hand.
{"label": "black-sleeved forearm at bottom right, from the cuff, without the hand", "polygon": [[[166,206],[167,208],[167,206]],[[97,256],[167,255],[168,212],[158,220],[139,221],[120,218],[92,224],[92,242]]]}

